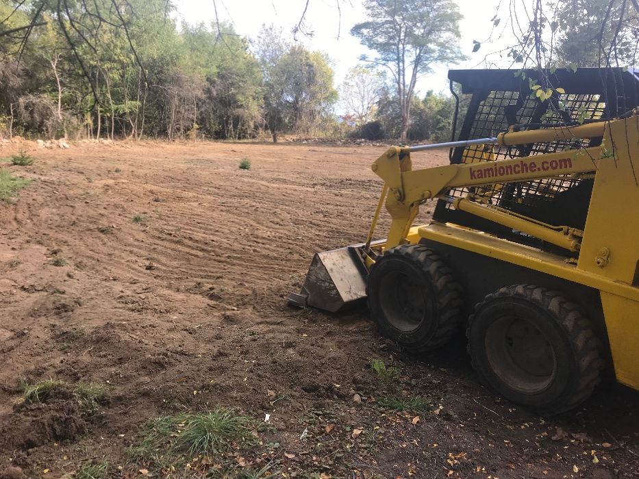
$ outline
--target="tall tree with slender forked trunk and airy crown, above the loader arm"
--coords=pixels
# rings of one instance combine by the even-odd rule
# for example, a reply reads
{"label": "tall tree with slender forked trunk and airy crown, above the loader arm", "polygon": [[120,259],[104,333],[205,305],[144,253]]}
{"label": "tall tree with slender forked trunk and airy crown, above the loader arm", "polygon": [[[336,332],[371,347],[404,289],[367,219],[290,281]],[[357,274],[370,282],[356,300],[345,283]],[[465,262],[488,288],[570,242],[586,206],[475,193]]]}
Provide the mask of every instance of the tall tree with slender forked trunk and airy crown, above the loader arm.
{"label": "tall tree with slender forked trunk and airy crown, above the loader arm", "polygon": [[369,19],[351,34],[377,52],[376,58],[362,60],[384,66],[392,75],[404,141],[418,78],[434,64],[464,57],[458,47],[461,14],[451,0],[366,0],[364,7]]}

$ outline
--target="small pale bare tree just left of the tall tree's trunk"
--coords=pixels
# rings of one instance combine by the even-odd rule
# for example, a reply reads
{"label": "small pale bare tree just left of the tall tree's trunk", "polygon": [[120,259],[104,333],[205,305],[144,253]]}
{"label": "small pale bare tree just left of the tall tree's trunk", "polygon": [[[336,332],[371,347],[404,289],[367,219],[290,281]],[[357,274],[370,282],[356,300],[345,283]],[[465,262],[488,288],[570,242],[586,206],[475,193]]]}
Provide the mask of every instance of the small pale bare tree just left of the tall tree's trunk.
{"label": "small pale bare tree just left of the tall tree's trunk", "polygon": [[361,127],[375,115],[379,96],[384,88],[384,75],[379,70],[371,70],[362,65],[349,70],[340,86],[340,102],[342,107]]}

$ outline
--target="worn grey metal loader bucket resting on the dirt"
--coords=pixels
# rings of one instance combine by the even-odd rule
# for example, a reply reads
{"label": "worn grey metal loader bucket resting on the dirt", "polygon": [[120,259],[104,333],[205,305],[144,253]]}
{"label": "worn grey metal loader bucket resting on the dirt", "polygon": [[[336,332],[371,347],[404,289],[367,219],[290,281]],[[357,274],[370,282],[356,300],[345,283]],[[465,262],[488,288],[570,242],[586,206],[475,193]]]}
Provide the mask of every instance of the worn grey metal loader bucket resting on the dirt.
{"label": "worn grey metal loader bucket resting on the dirt", "polygon": [[358,251],[361,246],[315,253],[301,292],[288,296],[289,304],[336,313],[366,298],[366,267]]}

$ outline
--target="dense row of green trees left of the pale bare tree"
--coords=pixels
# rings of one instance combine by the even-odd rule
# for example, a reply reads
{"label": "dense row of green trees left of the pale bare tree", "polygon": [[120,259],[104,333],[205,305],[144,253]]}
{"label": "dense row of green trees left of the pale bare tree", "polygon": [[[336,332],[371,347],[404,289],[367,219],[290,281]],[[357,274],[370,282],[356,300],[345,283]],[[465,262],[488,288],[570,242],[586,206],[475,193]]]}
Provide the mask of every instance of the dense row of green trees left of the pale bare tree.
{"label": "dense row of green trees left of the pale bare tree", "polygon": [[[2,27],[28,25],[33,3],[11,16],[2,3]],[[333,117],[326,55],[280,31],[264,29],[251,48],[224,23],[177,25],[164,0],[95,5],[64,16],[45,5],[28,42],[0,37],[0,133],[238,139],[312,135]]]}

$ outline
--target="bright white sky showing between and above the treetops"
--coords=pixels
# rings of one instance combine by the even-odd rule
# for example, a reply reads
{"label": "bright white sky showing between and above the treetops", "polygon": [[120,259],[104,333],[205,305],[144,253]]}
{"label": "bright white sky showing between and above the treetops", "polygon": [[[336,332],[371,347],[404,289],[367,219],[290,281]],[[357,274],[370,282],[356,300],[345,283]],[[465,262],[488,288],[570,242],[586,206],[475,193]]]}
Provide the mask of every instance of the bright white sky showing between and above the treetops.
{"label": "bright white sky showing between and above the treetops", "polygon": [[[341,6],[341,25],[337,2]],[[456,0],[460,12],[464,15],[460,23],[462,39],[460,46],[469,60],[450,68],[486,68],[481,63],[486,53],[497,51],[508,44],[512,38],[510,31],[503,34],[503,38],[491,44],[483,44],[477,53],[472,53],[473,40],[483,42],[490,36],[492,22],[490,19],[497,11],[499,0]],[[176,0],[177,16],[188,23],[214,20],[212,0]],[[260,31],[262,24],[273,23],[282,27],[288,34],[297,25],[304,9],[305,0],[217,0],[218,16],[221,20],[230,21],[238,34],[254,37]],[[508,6],[508,5],[506,5]],[[503,9],[503,7],[502,7]],[[504,12],[505,13],[505,12]],[[355,23],[364,21],[366,17],[361,0],[310,0],[305,16],[307,29],[314,32],[312,37],[297,35],[297,40],[311,50],[324,51],[329,55],[335,70],[335,85],[339,86],[349,68],[358,64],[362,53],[368,53],[359,40],[350,35]],[[503,30],[508,22],[502,19],[498,31]],[[338,38],[339,33],[339,38]],[[510,34],[510,35],[509,35]],[[507,38],[508,37],[508,38]],[[499,60],[492,58],[493,61]],[[505,55],[504,55],[504,60]],[[510,62],[496,62],[493,68],[508,68]],[[418,82],[418,93],[425,94],[427,90],[448,92],[446,65],[438,66],[435,73],[423,77]]]}

